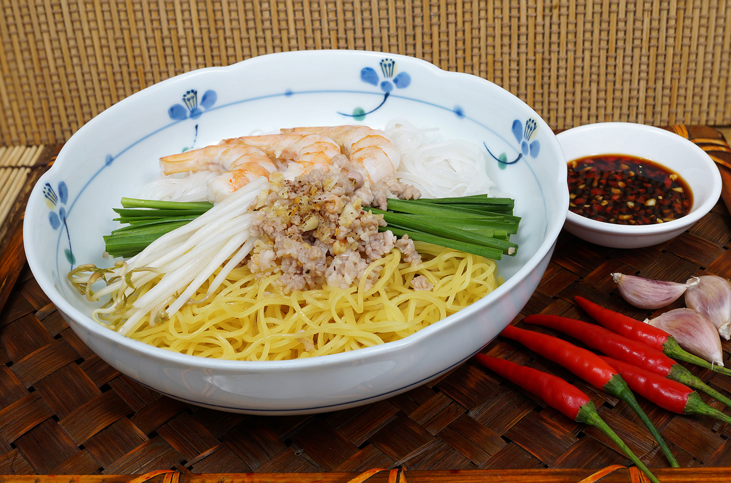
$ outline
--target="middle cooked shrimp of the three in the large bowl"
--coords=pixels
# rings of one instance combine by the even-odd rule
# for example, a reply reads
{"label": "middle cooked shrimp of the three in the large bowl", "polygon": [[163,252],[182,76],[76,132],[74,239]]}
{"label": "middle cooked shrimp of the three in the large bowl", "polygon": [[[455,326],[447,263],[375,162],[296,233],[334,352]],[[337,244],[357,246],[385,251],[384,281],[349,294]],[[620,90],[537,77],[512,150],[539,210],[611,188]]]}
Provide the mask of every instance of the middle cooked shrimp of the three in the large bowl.
{"label": "middle cooked shrimp of the three in the large bowl", "polygon": [[224,145],[249,145],[260,148],[275,159],[294,161],[285,172],[287,178],[309,172],[316,167],[327,169],[340,146],[329,137],[309,132],[261,134],[223,140]]}

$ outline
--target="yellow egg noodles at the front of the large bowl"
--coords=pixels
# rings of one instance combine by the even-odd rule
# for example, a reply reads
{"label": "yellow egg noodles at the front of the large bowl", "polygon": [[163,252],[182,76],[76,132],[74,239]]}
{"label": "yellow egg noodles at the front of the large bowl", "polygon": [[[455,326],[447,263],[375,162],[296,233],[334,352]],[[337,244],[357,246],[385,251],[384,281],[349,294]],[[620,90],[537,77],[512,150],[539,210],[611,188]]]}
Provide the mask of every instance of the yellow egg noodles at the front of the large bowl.
{"label": "yellow egg noodles at the front of the large bowl", "polygon": [[[401,262],[396,249],[373,262],[368,270],[383,265],[381,278],[367,292],[354,285],[280,294],[273,286],[278,274],[254,281],[246,267],[239,267],[210,302],[185,305],[152,327],[145,317],[128,335],[183,354],[227,360],[314,357],[397,341],[498,285],[493,260],[426,243],[417,248],[425,261],[415,267]],[[417,275],[433,289],[412,289]],[[193,298],[205,291],[201,286]]]}

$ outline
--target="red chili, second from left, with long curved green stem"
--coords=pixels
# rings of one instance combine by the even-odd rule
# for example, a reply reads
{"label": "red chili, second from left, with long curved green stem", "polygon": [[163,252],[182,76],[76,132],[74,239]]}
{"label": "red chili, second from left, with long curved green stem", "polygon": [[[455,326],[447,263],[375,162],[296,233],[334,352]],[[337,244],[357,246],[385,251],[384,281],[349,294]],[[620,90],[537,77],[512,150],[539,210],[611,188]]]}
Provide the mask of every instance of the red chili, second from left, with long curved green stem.
{"label": "red chili, second from left, with long curved green stem", "polygon": [[[602,327],[596,327],[602,329]],[[623,400],[630,408],[632,408],[632,411],[635,411],[637,417],[640,417],[642,422],[645,423],[645,426],[647,426],[648,430],[650,430],[650,433],[654,436],[657,444],[660,445],[660,449],[664,452],[667,460],[670,462],[670,465],[674,468],[680,467],[678,461],[675,460],[673,453],[670,452],[670,448],[667,446],[667,443],[665,443],[665,440],[662,438],[657,428],[652,424],[650,418],[648,418],[645,411],[643,411],[640,407],[640,404],[637,403],[635,395],[632,394],[632,391],[629,389],[624,379],[622,379],[622,376],[620,376],[612,366],[602,360],[601,357],[594,354],[594,352],[577,347],[563,339],[553,337],[552,335],[542,334],[540,332],[534,332],[532,330],[518,329],[518,327],[513,325],[505,327],[505,329],[501,332],[501,335],[522,343],[523,346],[531,349],[531,351],[535,351],[543,357],[561,364],[564,368],[575,373],[581,379],[587,381],[597,389],[604,389],[607,394],[616,396]]]}

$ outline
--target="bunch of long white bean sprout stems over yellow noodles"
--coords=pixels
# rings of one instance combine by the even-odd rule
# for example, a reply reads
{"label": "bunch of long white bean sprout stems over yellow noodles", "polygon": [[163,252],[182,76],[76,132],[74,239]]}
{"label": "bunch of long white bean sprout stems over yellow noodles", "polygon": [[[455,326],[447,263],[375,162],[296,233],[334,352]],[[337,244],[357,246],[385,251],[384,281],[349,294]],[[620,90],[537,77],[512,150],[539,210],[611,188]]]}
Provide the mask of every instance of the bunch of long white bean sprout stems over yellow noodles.
{"label": "bunch of long white bean sprout stems over yellow noodles", "polygon": [[[254,180],[246,187],[235,191],[229,197],[213,206],[203,215],[178,229],[174,229],[151,243],[137,256],[129,259],[127,272],[138,267],[154,267],[164,273],[162,279],[148,292],[135,300],[135,311],[122,324],[119,332],[126,334],[133,330],[145,315],[161,310],[170,304],[166,312],[175,313],[198,288],[226,262],[221,272],[213,279],[209,293],[216,290],[225,276],[236,267],[254,246],[249,235],[253,213],[251,204],[268,181]],[[132,284],[141,286],[159,276],[146,270],[132,274]],[[124,289],[124,278],[97,292],[113,294]],[[100,313],[103,311],[99,311]]]}

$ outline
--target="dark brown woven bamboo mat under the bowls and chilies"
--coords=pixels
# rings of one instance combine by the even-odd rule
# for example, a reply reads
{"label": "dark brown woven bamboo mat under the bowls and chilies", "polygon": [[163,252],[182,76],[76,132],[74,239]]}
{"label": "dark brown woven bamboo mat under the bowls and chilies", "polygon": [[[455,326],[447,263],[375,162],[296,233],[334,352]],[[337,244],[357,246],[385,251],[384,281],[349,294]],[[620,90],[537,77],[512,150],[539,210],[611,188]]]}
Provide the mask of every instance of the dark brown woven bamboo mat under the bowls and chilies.
{"label": "dark brown woven bamboo mat under the bowls and chilies", "polygon": [[[731,150],[716,130],[670,129],[731,162]],[[53,152],[45,149],[37,164],[48,164]],[[575,483],[601,468],[629,464],[602,433],[546,408],[474,361],[403,395],[325,414],[249,416],[171,400],[121,376],[80,342],[23,265],[17,234],[10,230],[4,237],[0,258],[3,276],[16,270],[17,278],[2,290],[7,303],[0,313],[0,474],[8,475],[3,481],[69,482],[70,476],[58,476],[69,474],[86,475],[74,477],[77,482],[126,482],[131,477],[125,475],[172,469],[185,482],[346,483],[369,468],[403,466],[410,482]],[[723,202],[683,235],[650,248],[603,248],[564,232],[515,322],[538,312],[581,318],[572,303],[575,294],[642,319],[651,314],[618,297],[610,272],[673,281],[704,273],[731,278],[730,247],[731,216]],[[731,427],[724,423],[670,414],[640,398],[683,467],[667,468],[624,403],[516,343],[497,338],[484,351],[510,354],[575,382],[663,482],[731,480]],[[730,357],[731,344],[724,342],[724,362],[731,364]],[[692,372],[731,394],[730,378]],[[10,477],[23,474],[46,476]],[[368,481],[386,482],[388,475]],[[620,468],[601,481],[643,479],[636,468]]]}

